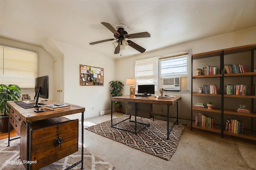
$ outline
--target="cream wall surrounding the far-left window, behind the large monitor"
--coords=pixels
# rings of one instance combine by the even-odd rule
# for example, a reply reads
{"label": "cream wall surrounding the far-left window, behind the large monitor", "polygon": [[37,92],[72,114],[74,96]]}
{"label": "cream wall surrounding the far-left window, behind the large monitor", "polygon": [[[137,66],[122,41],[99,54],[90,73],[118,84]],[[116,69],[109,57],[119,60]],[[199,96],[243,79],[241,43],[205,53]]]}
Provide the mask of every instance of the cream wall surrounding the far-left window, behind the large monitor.
{"label": "cream wall surrounding the far-left window, behind the large monitor", "polygon": [[[52,57],[48,55],[42,48],[36,47],[34,45],[28,45],[25,43],[20,43],[8,39],[1,38],[1,45],[6,45],[10,47],[16,47],[20,49],[26,49],[30,51],[38,52],[38,77],[40,76],[49,76],[49,100],[52,100],[53,93],[53,69],[52,69]],[[31,99],[34,99],[35,90],[34,89],[21,89],[22,94],[28,94]],[[22,98],[20,98],[22,100]]]}

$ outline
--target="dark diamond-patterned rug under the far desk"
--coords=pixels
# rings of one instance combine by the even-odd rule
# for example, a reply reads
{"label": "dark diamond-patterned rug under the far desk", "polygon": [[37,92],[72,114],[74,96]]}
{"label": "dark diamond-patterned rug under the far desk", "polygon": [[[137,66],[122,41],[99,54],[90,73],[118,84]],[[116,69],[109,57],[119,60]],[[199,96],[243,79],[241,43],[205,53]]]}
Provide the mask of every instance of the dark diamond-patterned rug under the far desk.
{"label": "dark diamond-patterned rug under the far desk", "polygon": [[[113,125],[118,123],[126,118],[129,115],[123,115],[118,118],[113,119]],[[132,116],[134,119],[134,117]],[[98,135],[102,135],[103,137],[107,137],[114,141],[123,143],[129,147],[141,150],[148,154],[152,154],[154,156],[158,156],[160,158],[170,160],[174,152],[178,147],[178,143],[182,132],[184,130],[183,125],[174,125],[172,131],[170,133],[170,140],[167,140],[167,122],[152,119],[146,119],[137,117],[138,122],[150,123],[150,127],[146,127],[142,131],[135,135],[133,133],[119,130],[111,127],[111,120],[105,121],[103,123],[99,123],[97,125],[93,125],[91,127],[86,128],[89,131],[97,133]],[[117,125],[120,128],[127,129],[130,131],[134,131],[134,123],[126,120]],[[172,126],[172,123],[170,123]],[[137,123],[137,128],[141,127],[140,124]]]}

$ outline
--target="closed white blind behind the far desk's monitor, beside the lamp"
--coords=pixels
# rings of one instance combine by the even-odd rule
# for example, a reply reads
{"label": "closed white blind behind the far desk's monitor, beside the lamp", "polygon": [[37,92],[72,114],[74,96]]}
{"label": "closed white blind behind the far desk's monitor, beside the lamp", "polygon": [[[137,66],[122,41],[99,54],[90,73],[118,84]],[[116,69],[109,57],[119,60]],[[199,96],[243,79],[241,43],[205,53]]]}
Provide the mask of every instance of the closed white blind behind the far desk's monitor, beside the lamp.
{"label": "closed white blind behind the far desk's monitor, beside the lamp", "polygon": [[157,57],[135,62],[135,78],[137,84],[157,85],[157,63]]}

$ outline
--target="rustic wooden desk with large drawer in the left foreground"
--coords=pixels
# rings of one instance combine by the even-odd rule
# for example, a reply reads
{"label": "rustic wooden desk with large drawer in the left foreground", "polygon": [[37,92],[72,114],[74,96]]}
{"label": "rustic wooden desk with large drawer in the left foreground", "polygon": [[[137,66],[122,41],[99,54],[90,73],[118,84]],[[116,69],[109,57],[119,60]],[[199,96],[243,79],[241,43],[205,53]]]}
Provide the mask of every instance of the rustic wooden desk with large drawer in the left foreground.
{"label": "rustic wooden desk with large drawer in the left foreground", "polygon": [[[58,102],[44,101],[44,103]],[[10,106],[8,146],[10,140],[13,140],[10,139],[10,125],[12,125],[20,135],[20,158],[26,170],[42,168],[78,150],[78,119],[70,120],[62,116],[82,113],[81,160],[66,170],[80,163],[81,169],[84,169],[84,107],[70,104],[70,108],[52,111],[41,105],[40,108],[46,111],[36,113],[35,107],[24,109],[14,101],[8,101],[7,104]],[[33,164],[35,161],[36,163]]]}

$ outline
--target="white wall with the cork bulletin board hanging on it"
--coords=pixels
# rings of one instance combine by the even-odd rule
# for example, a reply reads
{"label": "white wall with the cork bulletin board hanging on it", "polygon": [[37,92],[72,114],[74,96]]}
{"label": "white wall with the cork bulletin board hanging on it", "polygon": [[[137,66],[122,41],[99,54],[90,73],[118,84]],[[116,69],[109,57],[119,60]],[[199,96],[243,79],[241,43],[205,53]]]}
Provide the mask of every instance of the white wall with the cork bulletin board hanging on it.
{"label": "white wall with the cork bulletin board hanging on it", "polygon": [[[115,61],[71,45],[52,42],[64,54],[64,102],[86,108],[84,118],[99,115],[100,110],[110,109],[110,85],[115,80]],[[104,68],[104,86],[80,86],[79,64]],[[68,116],[80,119],[81,114]]]}

